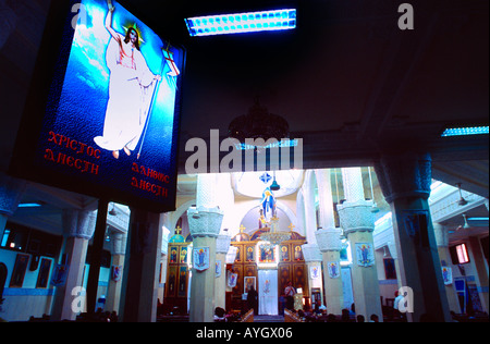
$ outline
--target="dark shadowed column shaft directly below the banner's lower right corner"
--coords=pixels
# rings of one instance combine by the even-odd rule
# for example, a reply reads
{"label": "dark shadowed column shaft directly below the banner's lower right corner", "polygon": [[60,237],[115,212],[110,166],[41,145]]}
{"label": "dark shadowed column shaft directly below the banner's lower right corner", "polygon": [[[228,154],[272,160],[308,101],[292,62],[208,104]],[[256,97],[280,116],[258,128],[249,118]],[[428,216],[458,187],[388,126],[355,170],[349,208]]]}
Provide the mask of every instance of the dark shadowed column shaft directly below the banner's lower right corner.
{"label": "dark shadowed column shaft directly below the banner's lower right corner", "polygon": [[121,294],[124,322],[156,322],[162,216],[131,208]]}

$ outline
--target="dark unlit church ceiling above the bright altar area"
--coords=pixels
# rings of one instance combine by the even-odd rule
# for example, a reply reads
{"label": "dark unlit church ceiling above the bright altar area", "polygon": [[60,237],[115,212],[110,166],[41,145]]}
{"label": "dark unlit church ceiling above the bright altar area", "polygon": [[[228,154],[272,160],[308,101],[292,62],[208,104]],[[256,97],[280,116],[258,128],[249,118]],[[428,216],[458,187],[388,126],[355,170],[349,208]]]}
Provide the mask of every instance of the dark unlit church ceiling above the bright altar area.
{"label": "dark unlit church ceiling above the bright altar area", "polygon": [[[42,17],[49,1],[8,2],[24,26],[0,50],[10,63],[0,66],[2,89],[20,72],[7,96],[2,91],[19,103],[7,107],[14,115],[2,127],[5,155],[25,99],[16,93],[28,85],[44,25],[36,11]],[[436,177],[463,181],[464,188],[488,197],[488,136],[440,137],[446,125],[488,125],[487,0],[411,0],[413,30],[397,25],[404,1],[120,2],[187,50],[181,173],[191,155],[184,151],[187,139],[207,138],[210,130],[224,137],[258,97],[289,122],[293,137],[304,139],[305,168],[372,164],[387,150],[429,151]],[[291,32],[199,38],[188,37],[184,23],[193,15],[290,7],[298,13]]]}

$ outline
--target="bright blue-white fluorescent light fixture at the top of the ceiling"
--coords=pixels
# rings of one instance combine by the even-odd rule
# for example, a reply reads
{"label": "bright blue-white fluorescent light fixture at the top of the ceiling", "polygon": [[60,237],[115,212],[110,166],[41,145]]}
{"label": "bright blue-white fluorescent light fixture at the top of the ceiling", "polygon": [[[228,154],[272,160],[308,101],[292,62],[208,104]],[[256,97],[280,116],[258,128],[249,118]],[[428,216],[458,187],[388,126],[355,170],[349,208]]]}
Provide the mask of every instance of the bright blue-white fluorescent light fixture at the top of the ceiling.
{"label": "bright blue-white fluorescent light fixture at the top of the ceiling", "polygon": [[192,37],[293,29],[296,28],[296,10],[195,16],[186,19],[185,23]]}

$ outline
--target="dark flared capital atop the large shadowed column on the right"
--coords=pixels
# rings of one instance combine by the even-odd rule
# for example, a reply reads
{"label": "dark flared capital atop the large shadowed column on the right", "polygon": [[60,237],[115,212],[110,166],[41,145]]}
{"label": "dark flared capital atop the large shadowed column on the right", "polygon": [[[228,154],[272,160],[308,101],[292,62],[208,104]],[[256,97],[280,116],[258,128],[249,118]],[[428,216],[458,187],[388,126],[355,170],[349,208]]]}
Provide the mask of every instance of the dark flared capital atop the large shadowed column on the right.
{"label": "dark flared capital atop the large shadowed column on the right", "polygon": [[429,153],[384,155],[375,170],[389,204],[402,197],[428,199],[430,196],[432,159]]}

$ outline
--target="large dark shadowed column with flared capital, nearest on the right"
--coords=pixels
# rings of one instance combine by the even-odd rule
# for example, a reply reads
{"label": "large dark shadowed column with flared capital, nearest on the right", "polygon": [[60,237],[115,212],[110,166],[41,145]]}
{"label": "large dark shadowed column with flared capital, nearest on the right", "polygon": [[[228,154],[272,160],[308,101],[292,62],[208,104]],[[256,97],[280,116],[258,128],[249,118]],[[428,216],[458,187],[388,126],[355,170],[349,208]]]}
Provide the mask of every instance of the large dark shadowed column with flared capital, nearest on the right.
{"label": "large dark shadowed column with flared capital, nearest on the right", "polygon": [[430,156],[384,155],[376,164],[376,173],[393,213],[401,281],[413,291],[414,312],[407,314],[408,321],[419,321],[422,315],[434,321],[451,321],[428,204]]}

